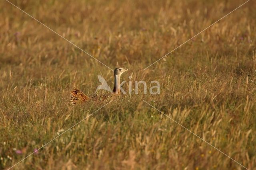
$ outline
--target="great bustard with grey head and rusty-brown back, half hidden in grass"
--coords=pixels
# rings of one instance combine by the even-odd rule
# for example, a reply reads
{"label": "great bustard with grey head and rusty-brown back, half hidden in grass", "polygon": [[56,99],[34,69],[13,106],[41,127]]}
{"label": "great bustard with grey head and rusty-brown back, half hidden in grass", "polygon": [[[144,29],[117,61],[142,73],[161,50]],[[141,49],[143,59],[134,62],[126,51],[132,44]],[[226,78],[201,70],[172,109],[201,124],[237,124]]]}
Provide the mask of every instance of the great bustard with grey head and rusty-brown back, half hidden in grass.
{"label": "great bustard with grey head and rusty-brown back, half hidden in grass", "polygon": [[[127,68],[121,68],[121,67],[118,67],[114,70],[114,89],[112,94],[120,94],[120,77],[126,71],[128,71]],[[89,100],[99,100],[99,99],[104,100],[110,95],[111,94],[102,94],[102,95],[92,94],[90,96],[86,96],[83,92],[74,88],[71,91],[70,102],[71,104],[76,104],[77,102],[87,102]]]}

